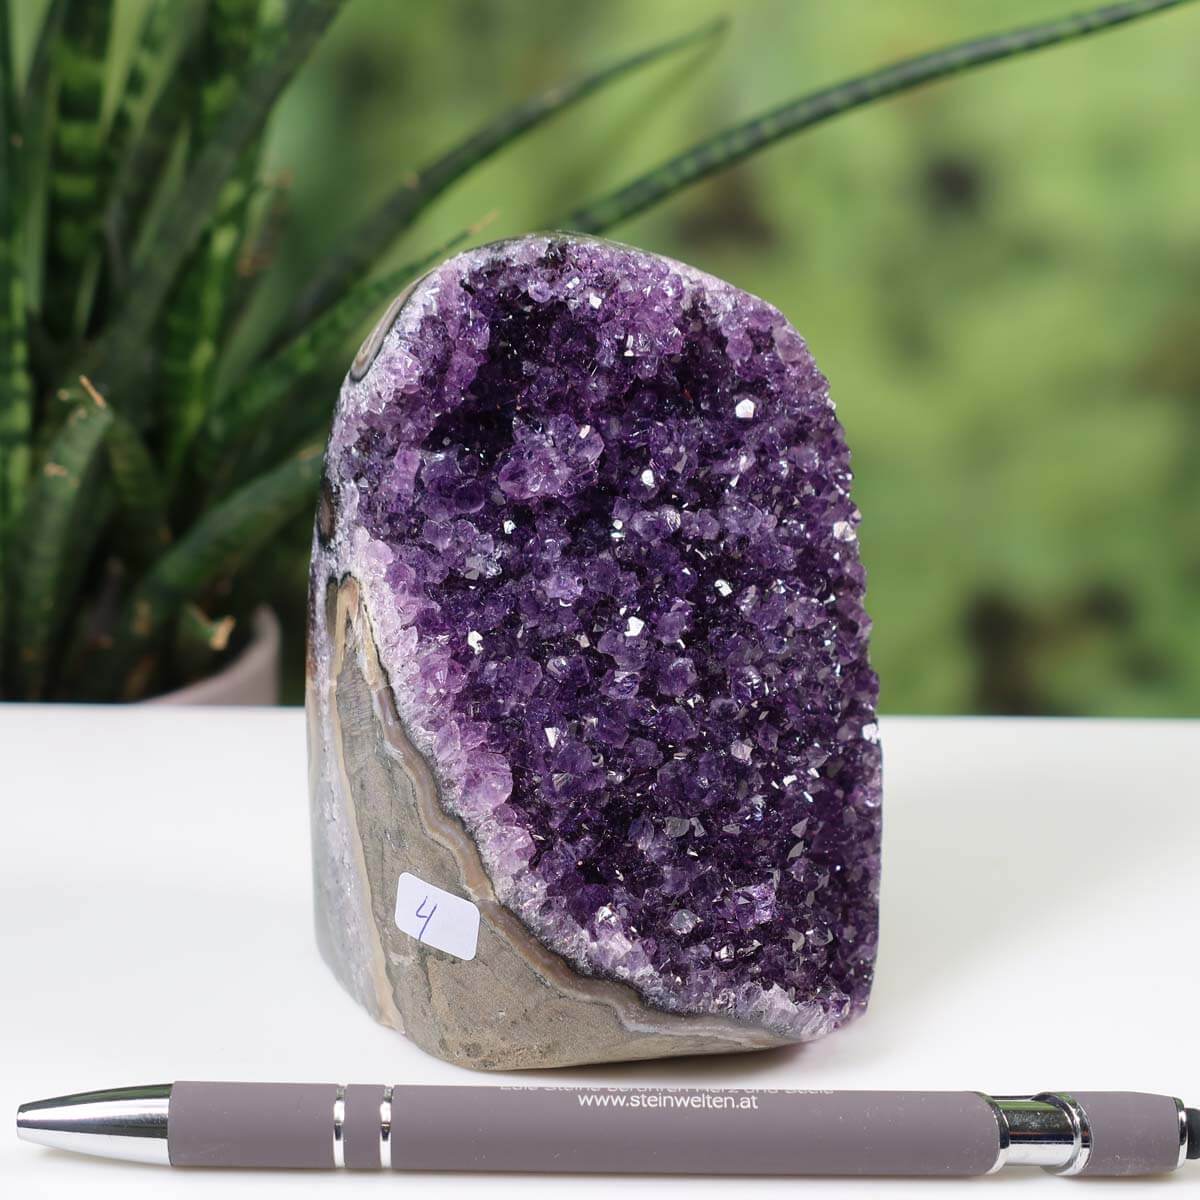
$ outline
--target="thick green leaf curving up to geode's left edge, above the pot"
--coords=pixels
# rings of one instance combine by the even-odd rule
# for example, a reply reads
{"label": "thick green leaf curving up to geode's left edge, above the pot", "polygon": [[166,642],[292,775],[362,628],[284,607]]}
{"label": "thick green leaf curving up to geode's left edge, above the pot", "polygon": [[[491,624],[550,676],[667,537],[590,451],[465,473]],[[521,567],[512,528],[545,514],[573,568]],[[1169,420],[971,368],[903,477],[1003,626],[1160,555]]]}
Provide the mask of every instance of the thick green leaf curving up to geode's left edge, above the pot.
{"label": "thick green leaf curving up to geode's left edge, above the pot", "polygon": [[163,632],[184,601],[233,574],[296,512],[313,503],[320,443],[239,488],[200,517],[145,574],[128,599],[109,654],[106,695],[133,700],[154,673]]}

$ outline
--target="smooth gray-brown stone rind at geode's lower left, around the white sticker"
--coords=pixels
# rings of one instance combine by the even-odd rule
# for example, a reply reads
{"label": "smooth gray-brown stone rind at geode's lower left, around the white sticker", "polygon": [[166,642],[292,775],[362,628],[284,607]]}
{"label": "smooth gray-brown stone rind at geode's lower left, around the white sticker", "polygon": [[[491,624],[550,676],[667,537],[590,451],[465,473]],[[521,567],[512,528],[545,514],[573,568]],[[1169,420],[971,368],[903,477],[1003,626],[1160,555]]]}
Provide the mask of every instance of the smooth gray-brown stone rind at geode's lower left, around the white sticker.
{"label": "smooth gray-brown stone rind at geode's lower left, around the white sticker", "polygon": [[[502,1070],[721,1054],[781,1045],[773,1033],[650,1008],[630,988],[581,976],[502,905],[462,823],[448,814],[396,714],[353,580],[329,581],[329,694],[310,671],[317,935],[347,990],[430,1054]],[[464,961],[396,928],[410,871],[469,898],[479,948]]]}

